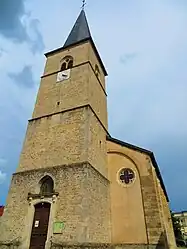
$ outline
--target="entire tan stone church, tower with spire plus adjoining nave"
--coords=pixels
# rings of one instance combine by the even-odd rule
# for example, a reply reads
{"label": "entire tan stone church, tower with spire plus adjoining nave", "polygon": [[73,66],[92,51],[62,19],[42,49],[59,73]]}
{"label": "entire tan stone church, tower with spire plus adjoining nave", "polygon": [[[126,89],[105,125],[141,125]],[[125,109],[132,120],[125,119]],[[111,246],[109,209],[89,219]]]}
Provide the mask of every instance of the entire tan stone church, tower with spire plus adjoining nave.
{"label": "entire tan stone church, tower with spire plus adjoining nave", "polygon": [[0,249],[175,248],[153,152],[108,131],[107,71],[84,9],[45,54],[0,222]]}

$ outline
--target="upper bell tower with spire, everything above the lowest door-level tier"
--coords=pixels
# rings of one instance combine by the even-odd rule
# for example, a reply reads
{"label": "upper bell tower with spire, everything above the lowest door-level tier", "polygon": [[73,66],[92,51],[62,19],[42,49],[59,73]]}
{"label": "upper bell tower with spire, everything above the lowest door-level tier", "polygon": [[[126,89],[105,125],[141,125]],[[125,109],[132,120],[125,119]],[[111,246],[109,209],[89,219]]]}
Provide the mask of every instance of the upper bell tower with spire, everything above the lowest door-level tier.
{"label": "upper bell tower with spire, everything above the lowest door-level tier", "polygon": [[106,172],[107,75],[84,10],[47,62],[18,172],[89,162]]}

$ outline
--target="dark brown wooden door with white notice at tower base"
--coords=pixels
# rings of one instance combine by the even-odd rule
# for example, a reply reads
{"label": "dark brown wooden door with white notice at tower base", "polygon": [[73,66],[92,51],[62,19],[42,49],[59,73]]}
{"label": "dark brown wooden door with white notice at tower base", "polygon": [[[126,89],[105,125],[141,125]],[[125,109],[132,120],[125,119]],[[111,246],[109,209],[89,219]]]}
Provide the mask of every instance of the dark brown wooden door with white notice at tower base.
{"label": "dark brown wooden door with white notice at tower base", "polygon": [[39,203],[35,206],[35,214],[32,226],[30,249],[45,249],[47,240],[49,214],[49,203]]}

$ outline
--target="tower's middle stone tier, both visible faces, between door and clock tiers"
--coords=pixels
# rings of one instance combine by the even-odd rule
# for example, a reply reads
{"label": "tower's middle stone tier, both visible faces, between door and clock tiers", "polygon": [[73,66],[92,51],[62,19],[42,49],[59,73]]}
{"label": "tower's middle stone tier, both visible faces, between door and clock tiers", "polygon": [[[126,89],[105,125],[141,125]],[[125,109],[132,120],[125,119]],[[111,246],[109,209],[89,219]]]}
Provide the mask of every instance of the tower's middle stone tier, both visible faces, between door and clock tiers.
{"label": "tower's middle stone tier, both visible faces, between door and clock tiers", "polygon": [[106,131],[89,106],[29,122],[17,172],[84,161],[107,176]]}

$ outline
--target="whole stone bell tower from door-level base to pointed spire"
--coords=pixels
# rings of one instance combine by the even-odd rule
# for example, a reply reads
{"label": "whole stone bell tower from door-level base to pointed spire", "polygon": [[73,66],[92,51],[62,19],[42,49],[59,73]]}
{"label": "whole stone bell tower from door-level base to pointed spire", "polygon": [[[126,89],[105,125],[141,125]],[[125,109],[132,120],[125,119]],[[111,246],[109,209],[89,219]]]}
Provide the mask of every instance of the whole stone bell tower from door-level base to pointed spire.
{"label": "whole stone bell tower from door-level base to pointed spire", "polygon": [[64,46],[45,56],[0,241],[18,239],[29,249],[108,243],[107,72],[84,10]]}

